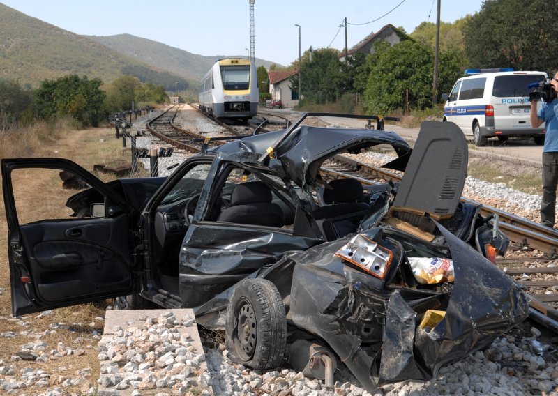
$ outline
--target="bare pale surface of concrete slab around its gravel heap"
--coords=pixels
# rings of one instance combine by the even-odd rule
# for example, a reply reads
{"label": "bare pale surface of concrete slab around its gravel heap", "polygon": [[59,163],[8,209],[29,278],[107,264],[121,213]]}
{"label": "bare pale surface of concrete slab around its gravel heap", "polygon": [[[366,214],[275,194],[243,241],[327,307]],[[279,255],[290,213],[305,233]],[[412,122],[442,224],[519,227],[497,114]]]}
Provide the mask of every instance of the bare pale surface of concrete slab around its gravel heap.
{"label": "bare pale surface of concrete slab around its gravel heap", "polygon": [[[114,311],[107,311],[105,313],[105,328],[103,330],[103,337],[100,340],[100,343],[107,342],[112,337],[116,337],[117,329],[122,328],[126,330],[129,327],[137,327],[137,328],[145,328],[149,326],[146,317],[151,319],[157,319],[162,315],[166,315],[169,312],[174,314],[176,319],[179,319],[183,324],[177,325],[176,330],[184,336],[190,338],[192,341],[192,346],[194,347],[195,351],[198,356],[202,356],[202,362],[199,364],[199,370],[202,372],[208,372],[207,364],[205,360],[204,348],[202,346],[202,341],[199,338],[199,333],[197,331],[197,323],[195,321],[195,315],[193,310],[191,309],[175,309],[175,310],[114,310]],[[189,317],[191,320],[183,321],[183,318]],[[143,319],[143,320],[142,320]],[[106,360],[105,360],[106,362]],[[101,362],[101,363],[105,363]],[[125,362],[123,362],[125,363]],[[121,364],[119,364],[121,365]],[[123,365],[123,364],[122,364]],[[109,376],[110,374],[100,374],[100,383],[103,383],[103,376]],[[114,375],[114,374],[113,374]],[[209,388],[205,389],[205,394],[213,394],[213,389],[211,385]],[[112,396],[112,395],[121,395],[121,396],[129,396],[134,391],[133,388],[117,390],[114,386],[104,387],[99,386],[98,388],[98,396]],[[172,390],[169,388],[159,388],[153,390],[140,390],[142,395],[155,395],[156,393],[161,392],[172,393]]]}

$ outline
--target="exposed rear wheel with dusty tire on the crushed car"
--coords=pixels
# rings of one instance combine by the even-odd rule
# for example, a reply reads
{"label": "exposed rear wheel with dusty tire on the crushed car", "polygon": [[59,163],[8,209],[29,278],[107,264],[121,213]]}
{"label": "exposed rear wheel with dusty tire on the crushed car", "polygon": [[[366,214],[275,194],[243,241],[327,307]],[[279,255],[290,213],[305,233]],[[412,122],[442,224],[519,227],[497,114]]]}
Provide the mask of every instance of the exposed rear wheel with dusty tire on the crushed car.
{"label": "exposed rear wheel with dusty tire on the crushed car", "polygon": [[281,295],[269,280],[241,280],[227,307],[225,344],[236,363],[257,370],[278,367],[287,349]]}

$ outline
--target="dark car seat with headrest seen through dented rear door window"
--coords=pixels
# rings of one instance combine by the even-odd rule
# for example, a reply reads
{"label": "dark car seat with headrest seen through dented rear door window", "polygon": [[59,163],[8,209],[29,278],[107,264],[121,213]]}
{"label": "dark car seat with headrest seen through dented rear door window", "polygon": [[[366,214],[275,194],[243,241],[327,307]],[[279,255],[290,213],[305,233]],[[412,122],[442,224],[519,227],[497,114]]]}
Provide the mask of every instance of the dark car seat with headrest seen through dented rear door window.
{"label": "dark car seat with headrest seen through dented rear door window", "polygon": [[285,214],[273,204],[271,190],[262,181],[237,184],[231,193],[231,204],[219,215],[220,222],[283,227]]}

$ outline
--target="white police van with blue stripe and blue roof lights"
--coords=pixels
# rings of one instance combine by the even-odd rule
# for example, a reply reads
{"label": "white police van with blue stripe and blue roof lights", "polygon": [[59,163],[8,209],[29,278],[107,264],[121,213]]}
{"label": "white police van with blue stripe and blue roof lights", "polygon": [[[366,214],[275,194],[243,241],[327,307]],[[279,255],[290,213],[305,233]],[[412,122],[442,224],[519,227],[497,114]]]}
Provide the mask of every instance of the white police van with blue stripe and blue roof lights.
{"label": "white police van with blue stripe and blue roof lights", "polygon": [[529,84],[541,82],[546,73],[513,69],[467,69],[467,77],[455,82],[451,93],[442,95],[444,121],[456,123],[476,146],[486,146],[489,137],[506,141],[512,136],[532,136],[536,144],[545,139],[544,123],[531,128]]}

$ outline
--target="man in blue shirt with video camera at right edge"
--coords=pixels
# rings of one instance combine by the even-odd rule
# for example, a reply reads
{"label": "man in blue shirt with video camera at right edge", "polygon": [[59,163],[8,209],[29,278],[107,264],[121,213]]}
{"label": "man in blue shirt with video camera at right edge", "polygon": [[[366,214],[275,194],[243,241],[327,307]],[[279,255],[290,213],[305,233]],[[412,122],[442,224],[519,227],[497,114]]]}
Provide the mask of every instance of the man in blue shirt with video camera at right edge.
{"label": "man in blue shirt with video camera at right edge", "polygon": [[[550,82],[558,92],[558,73]],[[543,102],[537,112],[537,100],[531,100],[531,126],[545,124],[543,146],[543,201],[541,202],[541,224],[554,227],[556,222],[556,188],[558,186],[558,98]]]}

